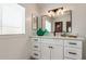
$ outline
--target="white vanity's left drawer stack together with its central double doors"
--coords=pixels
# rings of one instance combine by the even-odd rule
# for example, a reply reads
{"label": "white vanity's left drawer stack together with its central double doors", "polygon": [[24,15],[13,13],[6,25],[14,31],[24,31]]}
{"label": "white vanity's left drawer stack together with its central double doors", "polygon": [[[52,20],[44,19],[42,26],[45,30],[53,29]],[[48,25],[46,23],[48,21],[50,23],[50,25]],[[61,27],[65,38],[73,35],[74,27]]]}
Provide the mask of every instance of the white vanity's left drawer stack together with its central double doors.
{"label": "white vanity's left drawer stack together with its central double doors", "polygon": [[41,60],[62,60],[63,40],[32,38],[32,56]]}

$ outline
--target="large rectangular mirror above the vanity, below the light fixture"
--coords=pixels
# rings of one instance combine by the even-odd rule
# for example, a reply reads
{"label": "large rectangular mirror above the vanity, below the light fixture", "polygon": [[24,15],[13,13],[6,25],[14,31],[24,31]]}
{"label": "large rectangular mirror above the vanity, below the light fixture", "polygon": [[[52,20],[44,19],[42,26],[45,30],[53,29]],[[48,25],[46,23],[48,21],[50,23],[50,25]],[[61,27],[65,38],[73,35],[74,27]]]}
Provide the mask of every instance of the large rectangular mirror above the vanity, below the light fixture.
{"label": "large rectangular mirror above the vanity, below the light fixture", "polygon": [[62,15],[50,17],[41,16],[41,27],[48,31],[71,33],[72,31],[72,11],[65,11]]}

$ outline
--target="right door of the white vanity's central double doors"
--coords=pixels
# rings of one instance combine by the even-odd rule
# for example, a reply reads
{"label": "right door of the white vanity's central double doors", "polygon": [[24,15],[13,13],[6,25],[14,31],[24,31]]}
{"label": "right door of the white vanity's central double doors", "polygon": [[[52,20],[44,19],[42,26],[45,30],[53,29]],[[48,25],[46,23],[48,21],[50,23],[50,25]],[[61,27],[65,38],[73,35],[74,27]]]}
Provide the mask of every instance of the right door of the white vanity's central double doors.
{"label": "right door of the white vanity's central double doors", "polygon": [[51,48],[51,60],[63,60],[63,47],[53,44]]}

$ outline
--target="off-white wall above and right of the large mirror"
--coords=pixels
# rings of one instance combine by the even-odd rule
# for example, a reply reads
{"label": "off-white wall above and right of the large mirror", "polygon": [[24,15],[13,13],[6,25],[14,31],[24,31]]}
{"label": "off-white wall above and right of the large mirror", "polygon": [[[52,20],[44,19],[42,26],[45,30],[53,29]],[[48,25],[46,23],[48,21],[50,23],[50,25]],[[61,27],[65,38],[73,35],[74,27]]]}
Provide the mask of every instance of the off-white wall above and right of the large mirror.
{"label": "off-white wall above and right of the large mirror", "polygon": [[86,4],[58,4],[58,3],[42,3],[41,15],[46,14],[48,10],[66,7],[72,10],[72,33],[78,33],[79,36],[86,36]]}

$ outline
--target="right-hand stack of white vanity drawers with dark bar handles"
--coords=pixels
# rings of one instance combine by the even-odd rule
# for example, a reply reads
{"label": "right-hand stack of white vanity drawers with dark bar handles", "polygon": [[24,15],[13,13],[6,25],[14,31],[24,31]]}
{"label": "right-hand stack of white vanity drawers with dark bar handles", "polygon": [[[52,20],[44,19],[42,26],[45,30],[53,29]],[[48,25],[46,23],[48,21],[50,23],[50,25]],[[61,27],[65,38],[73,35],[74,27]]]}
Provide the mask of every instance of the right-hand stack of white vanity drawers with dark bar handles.
{"label": "right-hand stack of white vanity drawers with dark bar handles", "polygon": [[64,40],[64,59],[82,60],[83,42],[79,40]]}

